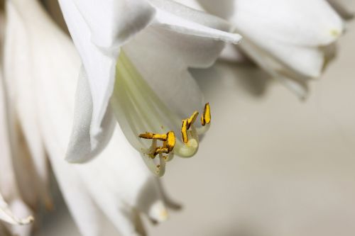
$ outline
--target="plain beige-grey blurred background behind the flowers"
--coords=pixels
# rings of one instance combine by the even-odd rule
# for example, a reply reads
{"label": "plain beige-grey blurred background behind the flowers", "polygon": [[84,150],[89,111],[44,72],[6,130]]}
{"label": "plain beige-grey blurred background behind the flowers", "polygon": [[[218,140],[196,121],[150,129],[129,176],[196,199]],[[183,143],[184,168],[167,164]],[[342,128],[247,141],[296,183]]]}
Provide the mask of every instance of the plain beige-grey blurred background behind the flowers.
{"label": "plain beige-grey blurred background behind the flowers", "polygon": [[[354,1],[351,7],[355,9]],[[184,208],[149,235],[355,235],[355,23],[307,101],[252,66],[193,71],[212,127],[163,177]],[[65,206],[41,236],[76,236]]]}

